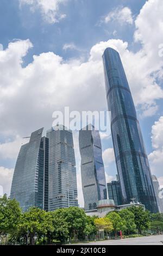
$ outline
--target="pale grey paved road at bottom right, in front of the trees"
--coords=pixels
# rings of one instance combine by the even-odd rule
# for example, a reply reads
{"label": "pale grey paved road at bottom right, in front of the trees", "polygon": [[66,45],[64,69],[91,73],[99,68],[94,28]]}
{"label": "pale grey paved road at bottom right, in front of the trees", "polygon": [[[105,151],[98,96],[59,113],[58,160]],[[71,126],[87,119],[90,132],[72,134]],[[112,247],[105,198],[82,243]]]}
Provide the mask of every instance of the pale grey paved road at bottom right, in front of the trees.
{"label": "pale grey paved road at bottom right, in front of the trees", "polygon": [[105,240],[89,243],[78,243],[78,245],[163,245],[163,235],[141,236],[126,238],[122,240]]}

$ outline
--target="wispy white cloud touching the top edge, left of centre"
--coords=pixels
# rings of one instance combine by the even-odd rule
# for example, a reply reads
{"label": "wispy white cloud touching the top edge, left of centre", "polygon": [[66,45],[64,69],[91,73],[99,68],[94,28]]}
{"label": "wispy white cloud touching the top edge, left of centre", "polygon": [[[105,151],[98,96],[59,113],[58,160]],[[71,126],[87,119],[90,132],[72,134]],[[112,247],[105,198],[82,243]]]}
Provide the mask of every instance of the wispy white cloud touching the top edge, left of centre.
{"label": "wispy white cloud touching the top edge, left of centre", "polygon": [[19,0],[20,5],[28,4],[30,9],[40,9],[42,17],[49,23],[58,22],[66,17],[66,14],[60,14],[60,4],[64,4],[67,0]]}

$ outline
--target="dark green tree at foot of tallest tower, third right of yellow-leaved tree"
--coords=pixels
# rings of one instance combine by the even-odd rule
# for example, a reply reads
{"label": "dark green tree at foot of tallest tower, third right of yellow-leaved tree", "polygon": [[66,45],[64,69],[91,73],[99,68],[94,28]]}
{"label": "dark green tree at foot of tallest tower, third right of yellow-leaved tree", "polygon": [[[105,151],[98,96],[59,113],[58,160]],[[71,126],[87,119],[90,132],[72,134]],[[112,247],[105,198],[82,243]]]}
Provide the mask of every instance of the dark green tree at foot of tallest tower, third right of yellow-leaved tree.
{"label": "dark green tree at foot of tallest tower, third right of yellow-leaved tree", "polygon": [[129,208],[134,214],[134,222],[139,233],[142,234],[142,230],[148,229],[150,224],[150,214],[149,211],[145,211],[143,206],[131,206]]}

